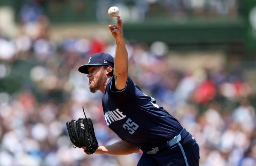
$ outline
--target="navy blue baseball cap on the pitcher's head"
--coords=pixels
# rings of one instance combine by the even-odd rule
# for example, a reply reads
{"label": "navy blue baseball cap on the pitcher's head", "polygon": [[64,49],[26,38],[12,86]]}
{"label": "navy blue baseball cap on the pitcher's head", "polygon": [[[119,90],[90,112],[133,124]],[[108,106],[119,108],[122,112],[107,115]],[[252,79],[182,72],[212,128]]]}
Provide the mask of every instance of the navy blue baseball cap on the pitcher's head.
{"label": "navy blue baseball cap on the pitcher's head", "polygon": [[107,53],[95,53],[91,56],[89,59],[89,62],[87,65],[82,65],[78,67],[78,71],[84,74],[88,74],[88,67],[92,65],[98,65],[98,66],[111,66],[114,67],[114,57]]}

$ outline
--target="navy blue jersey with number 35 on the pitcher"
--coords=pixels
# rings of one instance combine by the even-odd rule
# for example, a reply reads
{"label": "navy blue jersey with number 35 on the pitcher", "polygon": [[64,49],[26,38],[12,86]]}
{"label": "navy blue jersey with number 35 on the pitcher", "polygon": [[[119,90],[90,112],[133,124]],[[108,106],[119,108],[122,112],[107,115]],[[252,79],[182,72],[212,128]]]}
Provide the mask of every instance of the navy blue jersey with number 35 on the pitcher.
{"label": "navy blue jersey with number 35 on the pitcher", "polygon": [[176,136],[183,127],[163,107],[155,103],[128,77],[126,88],[119,91],[111,77],[102,99],[105,120],[122,140],[151,150]]}

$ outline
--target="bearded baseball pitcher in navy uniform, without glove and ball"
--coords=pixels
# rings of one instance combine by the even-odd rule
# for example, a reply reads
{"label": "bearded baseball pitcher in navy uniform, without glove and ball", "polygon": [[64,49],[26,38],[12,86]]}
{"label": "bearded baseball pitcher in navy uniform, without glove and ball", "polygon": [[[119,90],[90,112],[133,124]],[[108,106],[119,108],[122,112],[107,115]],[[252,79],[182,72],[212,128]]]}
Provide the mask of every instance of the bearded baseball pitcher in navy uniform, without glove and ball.
{"label": "bearded baseball pitcher in navy uniform, without glove and ball", "polygon": [[142,150],[138,166],[198,166],[199,146],[193,136],[128,76],[128,53],[119,16],[109,30],[116,40],[114,58],[96,53],[78,68],[88,74],[90,91],[103,93],[104,118],[121,138],[112,145],[99,146],[95,153],[125,155]]}

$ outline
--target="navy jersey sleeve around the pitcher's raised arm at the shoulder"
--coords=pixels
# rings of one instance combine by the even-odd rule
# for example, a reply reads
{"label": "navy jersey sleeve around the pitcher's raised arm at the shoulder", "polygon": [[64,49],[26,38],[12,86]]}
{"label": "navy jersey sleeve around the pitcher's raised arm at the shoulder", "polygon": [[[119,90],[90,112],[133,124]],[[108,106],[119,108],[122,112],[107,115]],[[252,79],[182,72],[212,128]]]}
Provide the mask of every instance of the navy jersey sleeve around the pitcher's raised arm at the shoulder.
{"label": "navy jersey sleeve around the pitcher's raised arm at the shoulder", "polygon": [[126,87],[122,90],[118,90],[115,87],[115,80],[114,78],[112,78],[109,93],[111,94],[111,97],[113,97],[116,100],[128,100],[131,97],[135,96],[135,84],[133,83],[132,79],[128,76],[126,81]]}

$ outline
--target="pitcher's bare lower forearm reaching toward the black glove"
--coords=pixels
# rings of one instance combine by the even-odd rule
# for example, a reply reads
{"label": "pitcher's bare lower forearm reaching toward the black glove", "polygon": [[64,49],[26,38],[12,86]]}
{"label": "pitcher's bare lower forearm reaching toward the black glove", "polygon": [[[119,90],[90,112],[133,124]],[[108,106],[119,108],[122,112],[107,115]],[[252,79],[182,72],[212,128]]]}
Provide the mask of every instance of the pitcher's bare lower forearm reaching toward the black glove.
{"label": "pitcher's bare lower forearm reaching toward the black glove", "polygon": [[114,155],[126,155],[139,152],[140,149],[131,145],[126,141],[119,141],[112,145],[99,146],[95,151],[95,154],[114,154]]}

